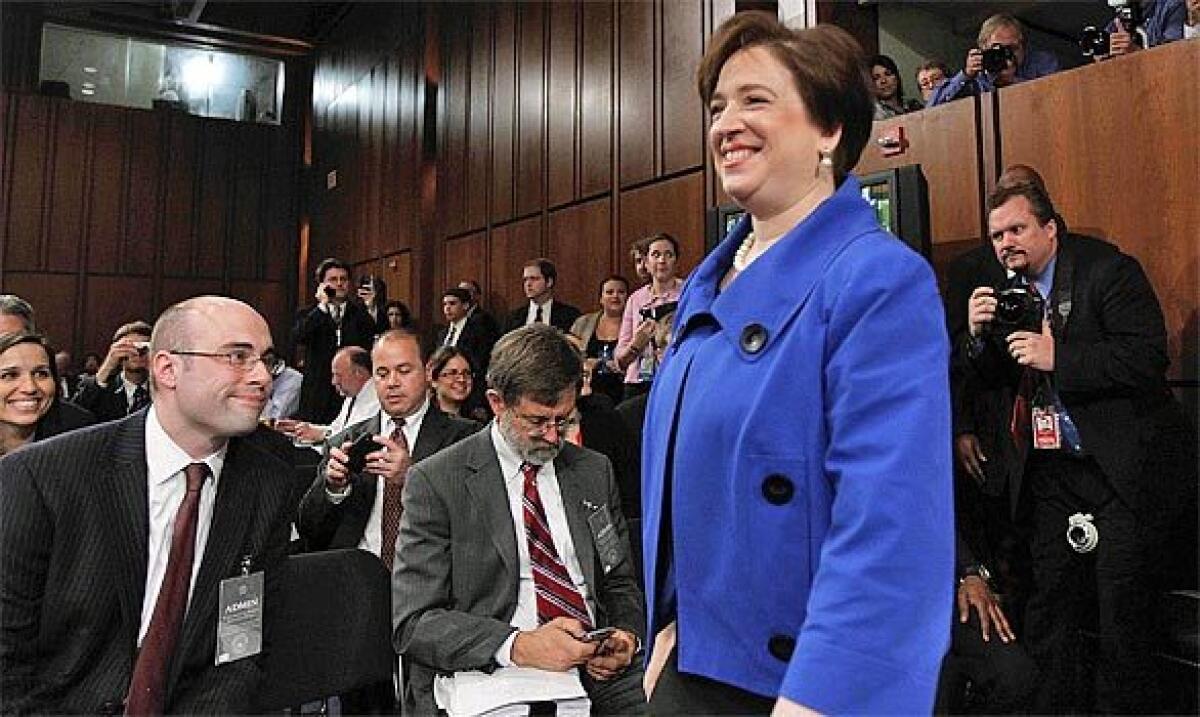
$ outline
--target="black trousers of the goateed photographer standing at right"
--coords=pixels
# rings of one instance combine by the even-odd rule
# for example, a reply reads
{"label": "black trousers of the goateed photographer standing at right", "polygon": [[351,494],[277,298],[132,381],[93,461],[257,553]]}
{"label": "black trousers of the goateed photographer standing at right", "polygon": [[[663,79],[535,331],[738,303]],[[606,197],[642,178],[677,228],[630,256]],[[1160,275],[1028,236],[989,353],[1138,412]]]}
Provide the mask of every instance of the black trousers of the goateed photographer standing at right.
{"label": "black trousers of the goateed photographer standing at right", "polygon": [[[1151,663],[1154,620],[1142,525],[1116,496],[1094,459],[1057,451],[1031,453],[1026,484],[1033,594],[1025,643],[1042,671],[1034,712],[1152,712],[1158,689]],[[1099,543],[1091,553],[1076,553],[1067,543],[1068,517],[1076,512],[1091,513],[1099,530]],[[1080,629],[1092,625],[1099,633],[1099,650],[1094,683],[1088,685],[1080,669],[1085,664]],[[1093,686],[1094,705],[1090,705]]]}

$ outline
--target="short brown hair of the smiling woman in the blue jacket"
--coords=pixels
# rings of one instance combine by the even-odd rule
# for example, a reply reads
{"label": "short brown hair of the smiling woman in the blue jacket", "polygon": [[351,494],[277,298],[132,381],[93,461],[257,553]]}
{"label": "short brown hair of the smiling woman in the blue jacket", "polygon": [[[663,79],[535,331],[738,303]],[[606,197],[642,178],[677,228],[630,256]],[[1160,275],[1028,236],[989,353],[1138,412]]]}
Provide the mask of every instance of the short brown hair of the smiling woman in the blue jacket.
{"label": "short brown hair of the smiling woman in the blue jacket", "polygon": [[871,135],[875,100],[863,48],[833,25],[791,30],[768,13],[739,12],[721,24],[700,61],[696,85],[706,106],[730,58],[754,47],[766,48],[787,68],[814,125],[822,132],[841,128],[833,152],[840,183]]}

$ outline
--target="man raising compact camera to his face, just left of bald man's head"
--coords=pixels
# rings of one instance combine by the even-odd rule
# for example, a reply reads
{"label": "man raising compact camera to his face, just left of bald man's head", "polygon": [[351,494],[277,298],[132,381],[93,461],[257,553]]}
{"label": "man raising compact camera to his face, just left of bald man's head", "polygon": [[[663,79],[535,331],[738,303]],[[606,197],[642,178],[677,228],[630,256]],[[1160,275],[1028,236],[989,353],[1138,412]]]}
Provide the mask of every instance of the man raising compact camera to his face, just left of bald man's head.
{"label": "man raising compact camera to his face, just left of bald man's head", "polygon": [[96,415],[96,421],[115,421],[150,405],[150,325],[125,324],[113,335],[113,345],[95,378],[79,380],[74,403]]}

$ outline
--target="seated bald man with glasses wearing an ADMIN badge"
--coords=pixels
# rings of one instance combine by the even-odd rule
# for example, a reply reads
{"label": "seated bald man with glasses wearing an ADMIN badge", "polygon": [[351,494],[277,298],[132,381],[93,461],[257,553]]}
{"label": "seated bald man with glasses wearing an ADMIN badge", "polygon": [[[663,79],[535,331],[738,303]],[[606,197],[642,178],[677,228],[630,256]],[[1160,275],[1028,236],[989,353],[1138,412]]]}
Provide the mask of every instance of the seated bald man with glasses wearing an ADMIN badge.
{"label": "seated bald man with glasses wearing an ADMIN badge", "polygon": [[[257,711],[295,511],[290,469],[251,436],[271,333],[220,296],[149,333],[145,410],[0,460],[0,713]],[[259,596],[260,639],[229,589]]]}

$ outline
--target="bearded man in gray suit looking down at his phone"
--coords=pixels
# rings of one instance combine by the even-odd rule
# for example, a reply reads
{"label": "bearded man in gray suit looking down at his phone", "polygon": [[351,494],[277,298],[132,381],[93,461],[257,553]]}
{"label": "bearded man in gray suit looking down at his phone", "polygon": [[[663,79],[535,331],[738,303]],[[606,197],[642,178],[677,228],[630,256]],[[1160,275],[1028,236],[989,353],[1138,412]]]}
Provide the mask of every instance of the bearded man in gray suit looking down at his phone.
{"label": "bearded man in gray suit looking down at his phone", "polygon": [[410,469],[392,571],[408,713],[436,710],[438,673],[511,665],[578,670],[593,713],[644,711],[644,607],[612,465],[563,440],[581,376],[562,333],[517,329],[487,372],[496,420]]}

